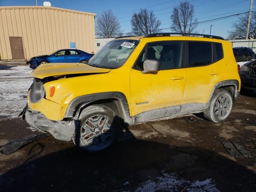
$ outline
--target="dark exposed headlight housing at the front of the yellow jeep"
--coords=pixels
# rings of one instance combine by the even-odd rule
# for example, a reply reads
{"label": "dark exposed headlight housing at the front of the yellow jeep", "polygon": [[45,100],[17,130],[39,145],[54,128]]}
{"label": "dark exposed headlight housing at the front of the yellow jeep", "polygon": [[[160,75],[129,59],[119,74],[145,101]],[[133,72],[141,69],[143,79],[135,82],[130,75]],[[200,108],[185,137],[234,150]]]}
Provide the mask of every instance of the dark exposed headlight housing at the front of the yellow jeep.
{"label": "dark exposed headlight housing at the front of the yellow jeep", "polygon": [[34,82],[30,86],[30,101],[32,103],[38,103],[42,98],[45,97],[45,89],[43,82],[36,80],[34,78]]}

